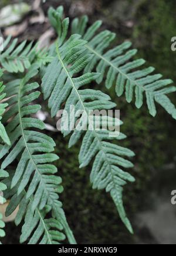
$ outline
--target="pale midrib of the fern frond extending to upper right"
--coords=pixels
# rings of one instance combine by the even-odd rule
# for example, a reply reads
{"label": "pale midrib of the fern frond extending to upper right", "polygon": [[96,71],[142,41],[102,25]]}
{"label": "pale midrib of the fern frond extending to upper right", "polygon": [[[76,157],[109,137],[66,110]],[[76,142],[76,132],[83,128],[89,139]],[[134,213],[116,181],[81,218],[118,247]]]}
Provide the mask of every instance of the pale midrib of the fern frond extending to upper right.
{"label": "pale midrib of the fern frond extending to upper right", "polygon": [[99,52],[97,52],[96,50],[94,50],[92,47],[89,46],[89,44],[86,44],[85,47],[89,50],[92,51],[93,54],[97,55],[97,57],[99,57],[101,60],[105,61],[106,63],[109,64],[109,66],[113,67],[115,70],[118,71],[118,73],[120,73],[121,75],[125,76],[127,78],[127,80],[130,80],[132,84],[136,84],[136,86],[138,86],[139,88],[143,88],[144,91],[150,91],[151,93],[154,93],[154,91],[150,90],[150,89],[146,89],[144,86],[140,86],[136,80],[132,80],[130,77],[128,77],[128,75],[126,73],[124,73],[123,71],[120,70],[120,68],[116,67],[115,65],[113,65],[113,63],[111,63],[111,61],[107,60],[106,58],[103,57],[103,55],[99,54]]}

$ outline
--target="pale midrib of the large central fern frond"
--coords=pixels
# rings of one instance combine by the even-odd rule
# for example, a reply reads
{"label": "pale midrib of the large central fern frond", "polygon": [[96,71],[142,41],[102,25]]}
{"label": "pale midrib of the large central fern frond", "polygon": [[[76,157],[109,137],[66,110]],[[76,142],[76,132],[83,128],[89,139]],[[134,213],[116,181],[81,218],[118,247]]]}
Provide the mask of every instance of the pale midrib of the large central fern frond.
{"label": "pale midrib of the large central fern frond", "polygon": [[[57,42],[56,42],[56,52],[57,52],[57,57],[59,58],[59,61],[60,61],[60,63],[62,64],[62,66],[63,66],[63,68],[64,68],[64,70],[65,70],[65,72],[66,72],[66,74],[67,74],[67,77],[69,77],[70,82],[71,82],[73,88],[74,88],[75,91],[76,91],[77,97],[79,98],[80,103],[82,104],[83,109],[84,109],[84,111],[85,111],[86,114],[87,114],[87,118],[88,118],[89,122],[92,123],[92,121],[90,120],[89,114],[87,113],[87,109],[86,109],[86,107],[84,106],[84,102],[83,102],[83,100],[82,100],[82,97],[80,97],[79,91],[77,90],[77,88],[76,88],[76,86],[75,86],[75,84],[74,84],[74,82],[73,82],[73,80],[72,80],[72,77],[71,77],[70,74],[69,74],[69,71],[67,71],[67,68],[66,68],[65,64],[63,63],[63,60],[62,60],[62,58],[61,58],[61,56],[60,56],[60,52],[59,52],[59,45],[58,45]],[[106,158],[106,161],[107,161],[107,163],[108,163],[108,165],[109,165],[110,173],[111,173],[111,176],[113,177],[113,183],[114,183],[114,186],[116,187],[116,183],[114,182],[114,174],[113,174],[113,172],[112,172],[112,170],[111,170],[111,164],[110,164],[110,162],[109,162],[109,160],[108,160],[108,158],[107,158],[107,155],[106,155],[106,152],[105,152],[104,149],[103,149],[103,146],[101,145],[101,140],[100,140],[99,137],[97,136],[96,130],[93,129],[93,132],[94,132],[94,137],[96,137],[96,139],[97,139],[97,141],[98,141],[98,143],[99,143],[99,148],[100,148],[100,150],[103,152],[103,154],[104,154],[104,156],[105,156],[105,158]]]}

